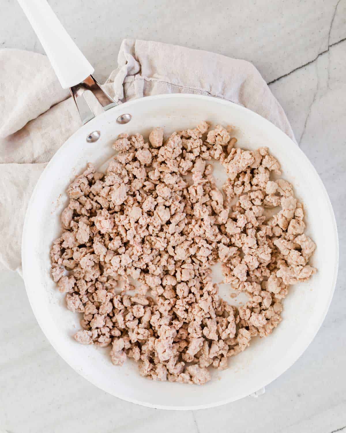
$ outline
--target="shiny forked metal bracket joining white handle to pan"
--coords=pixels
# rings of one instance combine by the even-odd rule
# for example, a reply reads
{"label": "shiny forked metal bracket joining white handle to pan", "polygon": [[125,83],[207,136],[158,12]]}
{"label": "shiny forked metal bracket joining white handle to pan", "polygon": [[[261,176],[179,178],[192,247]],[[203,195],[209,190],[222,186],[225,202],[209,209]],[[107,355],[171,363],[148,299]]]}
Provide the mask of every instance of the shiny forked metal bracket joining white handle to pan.
{"label": "shiny forked metal bracket joining white handle to pan", "polygon": [[105,90],[103,90],[95,78],[92,75],[89,75],[81,83],[70,87],[70,93],[77,105],[83,125],[95,117],[93,109],[85,98],[85,92],[88,90],[96,97],[104,111],[118,105],[115,100]]}

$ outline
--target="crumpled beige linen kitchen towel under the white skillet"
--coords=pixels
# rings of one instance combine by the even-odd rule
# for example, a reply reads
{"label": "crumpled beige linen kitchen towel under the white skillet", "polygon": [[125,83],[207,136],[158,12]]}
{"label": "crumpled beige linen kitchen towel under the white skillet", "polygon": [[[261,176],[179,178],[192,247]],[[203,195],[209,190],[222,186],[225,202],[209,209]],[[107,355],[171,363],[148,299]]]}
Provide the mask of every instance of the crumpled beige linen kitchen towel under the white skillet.
{"label": "crumpled beige linen kitchen towel under the white skillet", "polygon": [[[21,270],[21,237],[35,183],[81,125],[44,55],[0,51],[0,263]],[[249,62],[160,42],[122,42],[105,84],[119,102],[164,93],[222,98],[255,111],[295,140],[282,107]]]}

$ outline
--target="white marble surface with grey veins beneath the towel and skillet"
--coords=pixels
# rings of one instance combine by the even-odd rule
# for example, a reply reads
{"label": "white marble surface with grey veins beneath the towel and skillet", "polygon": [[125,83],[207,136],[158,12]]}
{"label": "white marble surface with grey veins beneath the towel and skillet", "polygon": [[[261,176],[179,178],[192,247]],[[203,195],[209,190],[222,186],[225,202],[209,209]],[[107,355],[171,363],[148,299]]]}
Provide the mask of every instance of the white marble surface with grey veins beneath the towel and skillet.
{"label": "white marble surface with grey veins beneath the towel and skillet", "polygon": [[[252,61],[284,107],[332,201],[340,270],[330,310],[304,355],[257,399],[194,412],[147,409],[90,385],[36,323],[19,275],[0,272],[0,432],[346,431],[346,0],[50,0],[103,80],[125,37]],[[42,52],[13,0],[0,4],[0,47]],[[281,78],[282,77],[282,78]]]}

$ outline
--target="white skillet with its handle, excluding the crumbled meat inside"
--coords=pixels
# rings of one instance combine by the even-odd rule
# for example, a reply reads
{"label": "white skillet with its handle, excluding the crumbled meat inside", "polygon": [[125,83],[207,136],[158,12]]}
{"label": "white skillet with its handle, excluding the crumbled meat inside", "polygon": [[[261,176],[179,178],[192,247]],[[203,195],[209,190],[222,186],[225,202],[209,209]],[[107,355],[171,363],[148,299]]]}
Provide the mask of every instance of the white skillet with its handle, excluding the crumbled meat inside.
{"label": "white skillet with its handle, excluding the crumbled meat inside", "polygon": [[[83,90],[98,92],[105,113],[93,117],[79,103],[85,123],[58,150],[42,173],[32,194],[22,238],[23,275],[36,319],[52,346],[80,375],[97,387],[133,403],[148,407],[191,410],[218,406],[269,384],[289,368],[311,343],[327,313],[336,282],[338,238],[327,192],[308,158],[291,139],[261,116],[224,100],[189,94],[147,97],[116,106],[102,94],[90,74],[93,68],[64,31],[45,0],[19,0],[34,27],[63,87],[75,100]],[[110,110],[110,106],[112,107]],[[130,114],[131,116],[123,116]],[[89,118],[91,120],[87,121]],[[118,120],[118,121],[117,121]],[[60,214],[67,205],[69,182],[87,162],[103,165],[112,157],[111,144],[121,132],[147,134],[154,126],[168,133],[194,127],[201,120],[234,125],[241,147],[269,147],[282,165],[282,177],[292,182],[304,204],[307,234],[317,244],[311,264],[318,268],[308,283],[290,289],[284,301],[282,323],[265,339],[253,339],[250,347],[230,359],[229,368],[212,372],[203,387],[154,382],[138,374],[127,361],[112,365],[109,348],[82,346],[72,339],[80,317],[68,311],[50,275],[49,251],[60,234]],[[127,123],[119,123],[127,122]],[[87,122],[87,123],[86,123]],[[93,133],[93,134],[92,134]],[[224,173],[216,171],[218,180]],[[217,272],[216,272],[217,274]],[[220,275],[215,275],[220,280]],[[231,300],[227,290],[223,292]],[[87,397],[86,397],[87,398]]]}

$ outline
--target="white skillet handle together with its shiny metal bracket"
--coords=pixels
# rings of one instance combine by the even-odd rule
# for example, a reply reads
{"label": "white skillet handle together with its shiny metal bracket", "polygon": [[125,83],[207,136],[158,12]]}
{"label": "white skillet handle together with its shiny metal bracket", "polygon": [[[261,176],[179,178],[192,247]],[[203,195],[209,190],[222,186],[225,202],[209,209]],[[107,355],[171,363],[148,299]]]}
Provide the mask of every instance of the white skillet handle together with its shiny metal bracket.
{"label": "white skillet handle together with its shiny metal bracket", "polygon": [[90,90],[103,110],[118,105],[91,75],[94,68],[70,38],[47,0],[18,0],[40,40],[55,74],[64,89],[70,89],[83,125],[95,117],[85,99]]}

